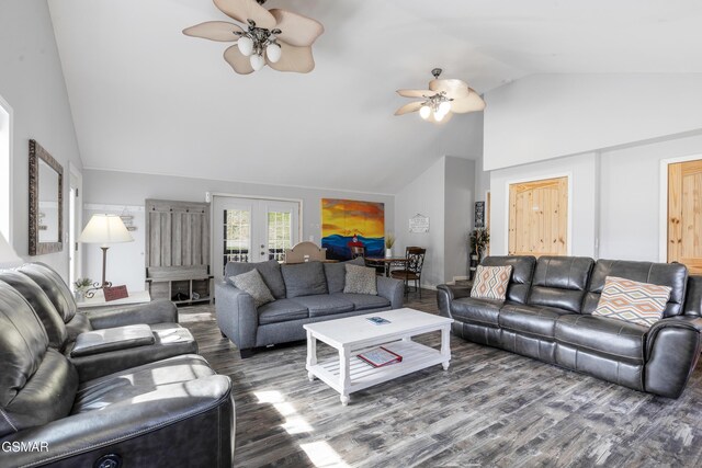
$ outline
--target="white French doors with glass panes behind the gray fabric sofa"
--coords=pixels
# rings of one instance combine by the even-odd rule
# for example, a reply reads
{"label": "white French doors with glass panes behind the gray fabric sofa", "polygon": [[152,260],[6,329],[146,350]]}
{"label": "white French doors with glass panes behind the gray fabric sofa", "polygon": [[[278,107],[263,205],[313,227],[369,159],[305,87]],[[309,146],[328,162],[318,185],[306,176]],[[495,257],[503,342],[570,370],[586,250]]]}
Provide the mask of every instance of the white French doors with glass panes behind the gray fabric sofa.
{"label": "white French doors with glass panes behind the gray fabric sofa", "polygon": [[227,262],[284,260],[299,241],[299,203],[214,196],[214,275]]}

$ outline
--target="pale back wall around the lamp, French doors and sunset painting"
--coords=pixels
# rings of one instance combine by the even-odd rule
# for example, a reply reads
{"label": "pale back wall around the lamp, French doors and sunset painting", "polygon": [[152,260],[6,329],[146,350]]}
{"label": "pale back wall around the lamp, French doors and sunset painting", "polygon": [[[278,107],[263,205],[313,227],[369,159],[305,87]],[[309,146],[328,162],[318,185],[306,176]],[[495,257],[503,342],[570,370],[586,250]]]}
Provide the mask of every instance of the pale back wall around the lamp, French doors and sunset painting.
{"label": "pale back wall around the lamp, French doors and sunset painting", "polygon": [[[165,158],[167,160],[167,158]],[[146,198],[174,199],[184,202],[204,202],[205,193],[220,193],[244,196],[278,197],[301,199],[303,203],[301,240],[320,242],[321,198],[347,198],[385,204],[385,230],[394,227],[395,197],[390,195],[367,194],[359,192],[328,191],[283,185],[262,185],[241,182],[213,181],[168,175],[136,174],[131,172],[86,170],[83,173],[83,221],[100,210],[100,205],[107,205],[106,213],[120,214],[124,206],[131,212],[143,207]],[[95,208],[95,205],[99,208]],[[97,210],[95,210],[97,209]],[[137,215],[138,213],[131,213]],[[143,214],[141,214],[143,216]],[[135,221],[141,222],[135,217]],[[115,284],[140,284],[144,288],[145,258],[144,229],[133,232],[137,242],[124,243],[110,248],[107,252],[107,281]],[[83,272],[93,279],[101,275],[102,258],[94,255],[95,246],[82,246]],[[118,250],[117,250],[118,249]],[[120,253],[117,253],[117,251]],[[100,251],[98,250],[98,253]],[[113,260],[120,255],[120,260]]]}

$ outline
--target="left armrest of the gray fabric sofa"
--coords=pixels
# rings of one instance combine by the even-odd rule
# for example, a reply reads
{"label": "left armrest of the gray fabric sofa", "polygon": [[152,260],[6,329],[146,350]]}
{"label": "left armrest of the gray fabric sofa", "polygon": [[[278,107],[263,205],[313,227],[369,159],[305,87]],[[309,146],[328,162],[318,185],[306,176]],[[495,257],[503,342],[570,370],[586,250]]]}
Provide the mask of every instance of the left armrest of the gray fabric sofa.
{"label": "left armrest of the gray fabric sofa", "polygon": [[251,295],[229,283],[215,284],[215,315],[219,330],[239,351],[256,346],[259,315]]}

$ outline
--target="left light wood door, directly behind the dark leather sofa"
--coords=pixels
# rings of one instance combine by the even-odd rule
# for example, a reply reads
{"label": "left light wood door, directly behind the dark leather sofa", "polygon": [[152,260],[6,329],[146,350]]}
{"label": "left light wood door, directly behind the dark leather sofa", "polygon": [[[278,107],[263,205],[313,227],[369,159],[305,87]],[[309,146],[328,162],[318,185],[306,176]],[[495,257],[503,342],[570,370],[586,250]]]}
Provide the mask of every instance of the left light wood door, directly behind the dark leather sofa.
{"label": "left light wood door, directly behind the dark leather sofa", "polygon": [[510,255],[566,255],[568,178],[509,186]]}

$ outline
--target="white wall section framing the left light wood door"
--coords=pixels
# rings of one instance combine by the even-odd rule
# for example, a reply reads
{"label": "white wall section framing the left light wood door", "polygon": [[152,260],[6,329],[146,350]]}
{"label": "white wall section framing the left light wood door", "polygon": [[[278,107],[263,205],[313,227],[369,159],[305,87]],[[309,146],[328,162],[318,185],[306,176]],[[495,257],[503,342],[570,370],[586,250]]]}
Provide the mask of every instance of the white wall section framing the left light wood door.
{"label": "white wall section framing the left light wood door", "polygon": [[508,252],[509,184],[568,175],[569,254],[596,256],[598,208],[597,153],[571,156],[490,172],[490,254]]}

